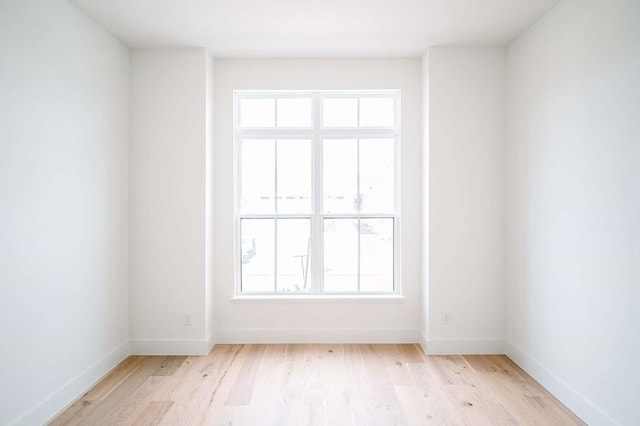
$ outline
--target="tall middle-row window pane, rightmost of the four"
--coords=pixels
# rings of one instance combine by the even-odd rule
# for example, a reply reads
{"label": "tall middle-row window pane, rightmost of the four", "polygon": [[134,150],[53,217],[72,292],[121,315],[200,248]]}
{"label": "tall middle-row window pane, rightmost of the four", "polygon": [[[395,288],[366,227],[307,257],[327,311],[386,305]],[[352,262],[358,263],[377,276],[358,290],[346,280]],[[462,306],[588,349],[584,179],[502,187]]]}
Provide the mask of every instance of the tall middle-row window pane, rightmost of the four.
{"label": "tall middle-row window pane, rightmost of the four", "polygon": [[393,139],[360,139],[360,209],[366,213],[393,212]]}

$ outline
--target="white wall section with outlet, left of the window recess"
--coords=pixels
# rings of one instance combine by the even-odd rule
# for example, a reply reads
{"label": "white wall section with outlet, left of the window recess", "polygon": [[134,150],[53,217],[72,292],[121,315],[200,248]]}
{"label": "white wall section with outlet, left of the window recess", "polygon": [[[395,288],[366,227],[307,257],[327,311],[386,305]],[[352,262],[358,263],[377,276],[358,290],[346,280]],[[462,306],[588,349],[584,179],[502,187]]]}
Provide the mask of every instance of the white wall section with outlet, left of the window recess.
{"label": "white wall section with outlet, left of the window recess", "polygon": [[[131,51],[130,337],[133,353],[207,353],[204,49]],[[185,314],[193,324],[185,326]]]}

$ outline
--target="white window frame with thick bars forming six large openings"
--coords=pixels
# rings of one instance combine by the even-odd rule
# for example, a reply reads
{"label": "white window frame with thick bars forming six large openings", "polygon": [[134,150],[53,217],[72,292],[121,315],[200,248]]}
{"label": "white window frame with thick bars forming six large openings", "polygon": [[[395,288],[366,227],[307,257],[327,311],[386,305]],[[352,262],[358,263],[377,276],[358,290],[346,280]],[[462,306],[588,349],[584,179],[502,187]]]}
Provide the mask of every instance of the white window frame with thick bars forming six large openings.
{"label": "white window frame with thick bars forming six large openings", "polygon": [[[398,296],[402,294],[401,288],[401,215],[400,215],[400,149],[401,149],[401,97],[400,90],[234,90],[234,272],[235,272],[235,295],[244,296]],[[242,128],[240,126],[240,100],[241,99],[291,99],[291,98],[312,98],[311,127],[251,127]],[[393,127],[323,127],[322,126],[322,101],[325,98],[380,98],[389,97],[395,101],[395,125]],[[276,102],[277,105],[277,102]],[[358,102],[359,106],[359,102]],[[277,117],[277,106],[275,110]],[[324,139],[366,139],[366,138],[388,138],[394,140],[394,211],[384,213],[324,213],[322,211],[322,150]],[[241,141],[243,139],[310,139],[311,140],[311,161],[312,161],[312,182],[311,182],[311,212],[309,214],[253,214],[243,213],[240,209],[242,200],[241,193],[241,173],[240,162]],[[308,276],[311,282],[311,290],[304,292],[279,292],[274,288],[273,292],[242,292],[242,248],[240,223],[242,219],[278,219],[278,218],[309,218],[310,219],[310,259]],[[389,292],[364,292],[341,291],[325,292],[323,285],[323,265],[324,265],[324,241],[323,241],[323,220],[325,218],[390,218],[393,219],[393,290]],[[359,273],[358,273],[359,275]],[[275,280],[274,280],[275,281]],[[358,288],[360,279],[358,279]]]}

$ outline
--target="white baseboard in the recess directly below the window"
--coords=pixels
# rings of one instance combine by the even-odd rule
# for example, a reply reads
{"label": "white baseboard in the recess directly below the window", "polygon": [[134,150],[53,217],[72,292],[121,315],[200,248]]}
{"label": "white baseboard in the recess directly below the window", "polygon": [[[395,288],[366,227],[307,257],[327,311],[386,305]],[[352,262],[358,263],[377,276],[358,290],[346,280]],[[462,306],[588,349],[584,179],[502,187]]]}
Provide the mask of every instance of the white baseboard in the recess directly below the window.
{"label": "white baseboard in the recess directly below the window", "polygon": [[272,329],[216,330],[216,343],[415,343],[415,329]]}

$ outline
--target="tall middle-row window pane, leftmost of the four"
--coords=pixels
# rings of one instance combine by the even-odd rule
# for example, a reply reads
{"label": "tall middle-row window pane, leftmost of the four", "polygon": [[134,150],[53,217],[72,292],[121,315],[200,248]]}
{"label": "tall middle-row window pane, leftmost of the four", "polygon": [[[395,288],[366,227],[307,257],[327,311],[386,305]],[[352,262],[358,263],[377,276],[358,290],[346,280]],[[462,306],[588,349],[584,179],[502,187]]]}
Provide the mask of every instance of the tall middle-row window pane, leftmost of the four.
{"label": "tall middle-row window pane, leftmost of the four", "polygon": [[275,143],[273,139],[244,139],[241,152],[242,201],[246,213],[275,211]]}

